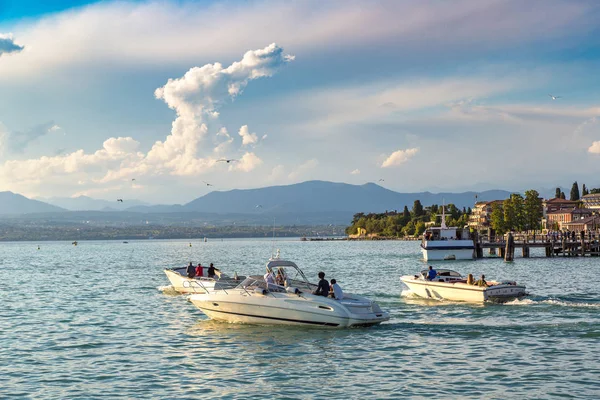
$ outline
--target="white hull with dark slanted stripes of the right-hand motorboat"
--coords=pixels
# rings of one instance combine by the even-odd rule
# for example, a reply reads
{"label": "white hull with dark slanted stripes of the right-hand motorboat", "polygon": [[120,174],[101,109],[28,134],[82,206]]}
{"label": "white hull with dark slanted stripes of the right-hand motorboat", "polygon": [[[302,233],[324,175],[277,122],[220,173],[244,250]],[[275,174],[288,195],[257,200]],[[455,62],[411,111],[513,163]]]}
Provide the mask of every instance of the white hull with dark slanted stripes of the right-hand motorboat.
{"label": "white hull with dark slanted stripes of the right-hand motorboat", "polygon": [[461,282],[424,281],[415,279],[413,276],[402,277],[401,279],[414,294],[425,299],[501,303],[526,295],[525,286],[520,285],[499,284],[490,287],[479,287]]}

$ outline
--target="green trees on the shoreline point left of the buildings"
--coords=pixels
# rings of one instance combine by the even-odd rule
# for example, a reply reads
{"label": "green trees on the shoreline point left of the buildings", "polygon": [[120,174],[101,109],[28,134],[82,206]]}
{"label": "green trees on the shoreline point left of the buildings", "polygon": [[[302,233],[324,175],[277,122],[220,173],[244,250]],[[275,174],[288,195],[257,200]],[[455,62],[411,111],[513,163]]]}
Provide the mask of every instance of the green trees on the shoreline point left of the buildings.
{"label": "green trees on the shoreline point left of the buildings", "polygon": [[[448,226],[464,226],[469,221],[471,208],[459,209],[454,204],[446,205],[446,224]],[[383,237],[418,236],[425,232],[426,223],[440,223],[442,206],[433,204],[423,207],[420,200],[415,200],[411,210],[404,206],[402,212],[386,211],[384,213],[354,214],[352,224],[346,228],[348,235],[359,233],[364,229],[367,234]]]}

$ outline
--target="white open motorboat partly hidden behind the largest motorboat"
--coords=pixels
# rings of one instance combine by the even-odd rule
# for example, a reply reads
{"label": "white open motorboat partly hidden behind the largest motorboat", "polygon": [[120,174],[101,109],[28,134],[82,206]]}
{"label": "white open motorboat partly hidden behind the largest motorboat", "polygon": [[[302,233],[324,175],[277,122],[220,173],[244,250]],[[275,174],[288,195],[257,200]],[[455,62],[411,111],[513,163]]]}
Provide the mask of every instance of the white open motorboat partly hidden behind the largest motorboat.
{"label": "white open motorboat partly hidden behind the largest motorboat", "polygon": [[[179,293],[204,293],[208,291],[230,289],[234,288],[246,277],[238,277],[234,275],[229,277],[221,271],[215,271],[217,274],[216,278],[209,278],[207,276],[196,276],[194,278],[188,278],[186,274],[187,267],[180,268],[167,268],[165,274],[171,282],[173,289]],[[206,268],[204,273],[206,273]]]}

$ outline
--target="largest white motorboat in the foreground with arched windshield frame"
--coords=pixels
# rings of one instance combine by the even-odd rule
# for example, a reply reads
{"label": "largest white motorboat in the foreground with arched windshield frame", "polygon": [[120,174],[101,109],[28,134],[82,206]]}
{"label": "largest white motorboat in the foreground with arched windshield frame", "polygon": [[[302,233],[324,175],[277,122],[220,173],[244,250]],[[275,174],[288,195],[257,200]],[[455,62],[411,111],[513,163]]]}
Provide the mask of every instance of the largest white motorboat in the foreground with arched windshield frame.
{"label": "largest white motorboat in the foreground with arched windshield frame", "polygon": [[376,302],[362,296],[344,294],[336,300],[313,295],[317,285],[309,283],[291,261],[271,259],[267,270],[281,274],[285,283],[267,284],[262,275],[249,276],[234,289],[192,294],[189,300],[209,318],[233,323],[346,328],[390,318]]}

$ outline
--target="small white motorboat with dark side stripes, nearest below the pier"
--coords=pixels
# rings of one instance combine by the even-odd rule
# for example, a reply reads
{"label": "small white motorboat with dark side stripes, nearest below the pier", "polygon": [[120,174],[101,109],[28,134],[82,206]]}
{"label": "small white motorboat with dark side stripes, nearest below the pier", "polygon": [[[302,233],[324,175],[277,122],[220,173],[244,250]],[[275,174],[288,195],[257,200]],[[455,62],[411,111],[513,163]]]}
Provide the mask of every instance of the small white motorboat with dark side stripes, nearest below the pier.
{"label": "small white motorboat with dark side stripes, nearest below the pier", "polygon": [[449,269],[438,269],[437,276],[431,281],[427,280],[427,273],[428,270],[422,270],[418,275],[400,279],[414,294],[426,299],[502,303],[527,295],[525,286],[514,281],[488,281],[488,286],[477,286]]}

